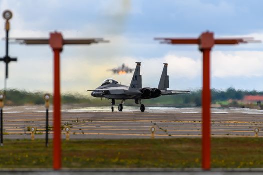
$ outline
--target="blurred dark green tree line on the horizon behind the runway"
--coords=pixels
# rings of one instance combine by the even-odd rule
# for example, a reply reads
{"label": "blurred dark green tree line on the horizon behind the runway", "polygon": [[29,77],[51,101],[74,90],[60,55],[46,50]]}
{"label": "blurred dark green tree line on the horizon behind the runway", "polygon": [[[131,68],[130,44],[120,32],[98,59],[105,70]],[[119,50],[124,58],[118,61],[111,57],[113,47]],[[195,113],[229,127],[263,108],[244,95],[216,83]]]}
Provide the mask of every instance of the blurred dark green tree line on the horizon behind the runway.
{"label": "blurred dark green tree line on the horizon behind the runway", "polygon": [[[44,92],[28,92],[25,90],[8,89],[6,92],[5,105],[41,105],[44,104]],[[245,95],[263,95],[263,91],[236,90],[228,88],[226,90],[211,89],[212,103],[227,101],[229,99],[242,100]],[[197,89],[189,94],[161,96],[159,98],[147,99],[143,103],[151,106],[201,106],[202,90]],[[110,100],[104,100],[77,93],[64,93],[61,95],[63,104],[85,104],[87,106],[109,105]],[[52,96],[51,96],[52,103]],[[116,102],[117,103],[117,102]],[[126,105],[136,105],[133,100],[127,100]]]}

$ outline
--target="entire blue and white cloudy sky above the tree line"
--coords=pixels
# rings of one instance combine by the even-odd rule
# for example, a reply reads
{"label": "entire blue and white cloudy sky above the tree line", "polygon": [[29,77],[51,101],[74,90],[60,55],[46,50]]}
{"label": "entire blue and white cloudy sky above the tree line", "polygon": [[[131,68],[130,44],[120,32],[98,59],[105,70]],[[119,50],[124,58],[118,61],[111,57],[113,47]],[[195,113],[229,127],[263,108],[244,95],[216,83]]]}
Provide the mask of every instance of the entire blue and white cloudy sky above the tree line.
{"label": "entire blue and white cloudy sky above the tree line", "polygon": [[[197,46],[159,44],[154,37],[254,37],[263,40],[261,0],[0,0],[0,12],[10,9],[10,37],[103,37],[110,43],[64,46],[61,91],[86,94],[109,77],[129,85],[132,75],[113,75],[109,68],[141,61],[143,86],[156,87],[168,63],[170,88],[201,88],[202,59]],[[0,21],[4,28],[4,20]],[[5,36],[4,30],[0,37]],[[0,41],[4,55],[4,40]],[[49,46],[12,44],[8,88],[29,91],[53,89],[53,59]],[[263,44],[213,48],[212,88],[263,90]],[[0,63],[0,88],[4,63]]]}

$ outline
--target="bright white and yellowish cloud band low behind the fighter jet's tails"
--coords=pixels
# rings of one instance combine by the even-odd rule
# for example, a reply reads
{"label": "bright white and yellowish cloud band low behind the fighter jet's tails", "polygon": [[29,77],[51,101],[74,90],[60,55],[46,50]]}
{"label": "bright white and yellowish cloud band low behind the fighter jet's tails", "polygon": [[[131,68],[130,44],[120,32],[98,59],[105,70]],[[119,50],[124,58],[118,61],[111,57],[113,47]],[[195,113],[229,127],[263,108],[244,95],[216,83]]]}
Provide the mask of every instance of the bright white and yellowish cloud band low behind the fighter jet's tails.
{"label": "bright white and yellowish cloud band low behind the fighter jet's tails", "polygon": [[[51,56],[51,55],[50,55]],[[171,87],[178,87],[174,81],[180,82],[199,79],[202,75],[202,59],[177,56],[174,53],[163,57],[108,57],[110,61],[91,63],[92,57],[76,55],[76,57],[63,56],[61,58],[61,91],[80,92],[85,94],[86,89],[94,89],[106,78],[114,78],[122,84],[129,85],[132,74],[113,75],[110,68],[126,63],[135,67],[136,61],[141,61],[141,75],[143,86],[156,87],[159,82],[163,63],[168,63],[168,75]],[[53,87],[53,61],[49,57],[20,59],[10,64],[10,78],[8,87],[28,90],[52,91]],[[106,60],[103,58],[102,60]],[[4,65],[1,64],[4,68]],[[214,51],[211,57],[212,78],[233,77],[262,77],[263,52],[259,51]],[[177,80],[176,80],[177,79]],[[3,78],[0,77],[0,82]],[[233,84],[234,85],[234,84]],[[180,84],[180,88],[189,86]]]}

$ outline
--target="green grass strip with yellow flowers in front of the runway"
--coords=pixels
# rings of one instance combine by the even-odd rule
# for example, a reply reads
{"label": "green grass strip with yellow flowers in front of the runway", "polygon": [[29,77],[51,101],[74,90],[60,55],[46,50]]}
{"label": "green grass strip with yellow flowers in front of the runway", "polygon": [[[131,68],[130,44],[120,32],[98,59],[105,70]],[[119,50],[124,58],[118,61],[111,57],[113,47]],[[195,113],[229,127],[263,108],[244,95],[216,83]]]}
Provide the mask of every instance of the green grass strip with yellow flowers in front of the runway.
{"label": "green grass strip with yellow flowers in front of the runway", "polygon": [[[263,167],[262,138],[212,138],[212,167]],[[69,140],[64,168],[190,168],[201,166],[201,139]],[[0,168],[52,168],[44,140],[5,140]]]}

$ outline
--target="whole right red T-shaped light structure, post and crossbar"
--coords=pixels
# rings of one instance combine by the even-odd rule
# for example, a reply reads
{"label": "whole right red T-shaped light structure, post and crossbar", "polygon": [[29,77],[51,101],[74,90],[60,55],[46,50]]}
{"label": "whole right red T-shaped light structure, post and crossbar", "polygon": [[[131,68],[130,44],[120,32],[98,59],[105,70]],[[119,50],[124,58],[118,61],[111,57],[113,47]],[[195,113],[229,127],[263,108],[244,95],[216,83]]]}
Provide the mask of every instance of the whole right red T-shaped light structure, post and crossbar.
{"label": "whole right red T-shaped light structure, post and crossbar", "polygon": [[253,38],[214,39],[212,32],[204,32],[199,38],[156,38],[167,44],[198,44],[203,52],[203,90],[202,90],[202,168],[211,168],[211,92],[210,92],[210,51],[214,44],[239,44],[257,42]]}

